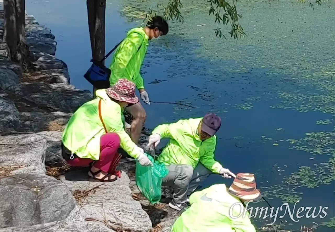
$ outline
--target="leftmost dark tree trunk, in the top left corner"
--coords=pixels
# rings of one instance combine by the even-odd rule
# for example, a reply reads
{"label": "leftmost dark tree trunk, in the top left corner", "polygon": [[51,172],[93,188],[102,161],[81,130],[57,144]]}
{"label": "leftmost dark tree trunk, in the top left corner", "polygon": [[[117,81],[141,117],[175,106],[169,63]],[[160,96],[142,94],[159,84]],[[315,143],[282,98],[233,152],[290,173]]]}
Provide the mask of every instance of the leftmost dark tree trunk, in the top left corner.
{"label": "leftmost dark tree trunk, in the top left corner", "polygon": [[7,43],[10,57],[12,60],[16,58],[17,44],[19,38],[17,37],[17,24],[16,24],[16,1],[4,0],[4,35],[3,41]]}

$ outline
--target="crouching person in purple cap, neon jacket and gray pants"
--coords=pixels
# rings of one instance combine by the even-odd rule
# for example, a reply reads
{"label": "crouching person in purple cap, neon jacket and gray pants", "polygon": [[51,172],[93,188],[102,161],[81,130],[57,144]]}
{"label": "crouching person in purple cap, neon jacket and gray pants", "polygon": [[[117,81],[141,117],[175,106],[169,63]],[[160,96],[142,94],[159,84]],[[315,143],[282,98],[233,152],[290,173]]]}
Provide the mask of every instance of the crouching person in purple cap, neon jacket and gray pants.
{"label": "crouching person in purple cap, neon jacket and gray pants", "polygon": [[203,118],[159,125],[149,136],[148,147],[152,144],[156,147],[161,138],[169,138],[158,161],[169,169],[162,184],[174,187],[173,200],[169,203],[171,208],[180,211],[187,206],[188,196],[212,172],[225,178],[235,177],[229,169],[214,160],[215,133],[220,126],[220,117],[208,113]]}

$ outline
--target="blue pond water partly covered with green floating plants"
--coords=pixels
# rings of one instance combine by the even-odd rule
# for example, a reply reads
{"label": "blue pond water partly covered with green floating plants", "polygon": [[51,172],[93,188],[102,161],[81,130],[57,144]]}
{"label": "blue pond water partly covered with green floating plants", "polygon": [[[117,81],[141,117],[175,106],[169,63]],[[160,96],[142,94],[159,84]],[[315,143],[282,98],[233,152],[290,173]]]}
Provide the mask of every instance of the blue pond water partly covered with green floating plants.
{"label": "blue pond water partly covered with green floating plants", "polygon": [[[71,83],[91,90],[82,77],[91,58],[86,3],[73,0],[64,8],[63,2],[28,0],[27,11],[52,29],[56,56],[68,64]],[[107,2],[106,50],[139,26],[148,8],[157,4]],[[145,126],[217,113],[222,126],[215,158],[235,173],[255,173],[257,187],[271,206],[287,202],[293,211],[299,200],[294,220],[288,212],[279,218],[283,206],[275,224],[282,220],[282,228],[299,229],[328,223],[329,228],[316,231],[334,231],[335,1],[314,10],[296,1],[239,1],[247,34],[239,41],[215,37],[206,1],[183,5],[185,22],[170,22],[169,34],[150,42],[141,72],[152,101],[178,101],[196,109],[145,105]],[[214,183],[230,185],[231,180],[213,175],[203,187]],[[267,205],[259,201],[251,206]],[[307,217],[306,210],[297,218],[300,207],[311,207],[309,215],[328,208],[326,216]],[[262,226],[273,218],[252,220]]]}

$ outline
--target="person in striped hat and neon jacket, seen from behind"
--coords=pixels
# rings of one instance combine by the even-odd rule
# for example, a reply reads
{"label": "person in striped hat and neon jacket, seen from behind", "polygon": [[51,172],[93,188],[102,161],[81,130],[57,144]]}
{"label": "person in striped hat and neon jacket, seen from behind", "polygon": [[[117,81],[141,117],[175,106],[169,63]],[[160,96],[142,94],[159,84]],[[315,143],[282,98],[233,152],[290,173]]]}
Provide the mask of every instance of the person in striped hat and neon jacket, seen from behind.
{"label": "person in striped hat and neon jacket, seen from behind", "polygon": [[229,189],[214,184],[192,193],[191,206],[177,218],[172,232],[256,232],[246,205],[260,197],[254,175],[239,173]]}

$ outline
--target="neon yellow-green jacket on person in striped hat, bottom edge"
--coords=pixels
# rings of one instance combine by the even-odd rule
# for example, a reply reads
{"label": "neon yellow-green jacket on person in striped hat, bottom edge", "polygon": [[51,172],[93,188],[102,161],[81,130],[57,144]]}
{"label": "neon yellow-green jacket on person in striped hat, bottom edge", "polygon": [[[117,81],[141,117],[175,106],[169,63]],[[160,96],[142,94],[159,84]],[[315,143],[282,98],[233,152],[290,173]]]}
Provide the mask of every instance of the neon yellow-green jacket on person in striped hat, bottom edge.
{"label": "neon yellow-green jacket on person in striped hat, bottom edge", "polygon": [[249,212],[224,184],[192,193],[190,205],[175,221],[172,232],[256,232]]}

